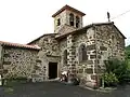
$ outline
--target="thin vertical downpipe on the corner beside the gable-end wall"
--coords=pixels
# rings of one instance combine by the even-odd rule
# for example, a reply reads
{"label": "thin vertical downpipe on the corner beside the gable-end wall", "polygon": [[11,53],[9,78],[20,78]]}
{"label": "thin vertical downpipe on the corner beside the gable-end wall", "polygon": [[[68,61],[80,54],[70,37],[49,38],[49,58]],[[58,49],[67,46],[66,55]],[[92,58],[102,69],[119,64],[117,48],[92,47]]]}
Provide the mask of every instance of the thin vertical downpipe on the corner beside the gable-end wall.
{"label": "thin vertical downpipe on the corner beside the gable-end wall", "polygon": [[94,28],[94,34],[95,34],[95,72],[96,75],[95,75],[95,80],[96,80],[96,88],[99,88],[99,70],[98,70],[98,39],[96,39],[96,27],[95,25],[93,25],[93,28]]}

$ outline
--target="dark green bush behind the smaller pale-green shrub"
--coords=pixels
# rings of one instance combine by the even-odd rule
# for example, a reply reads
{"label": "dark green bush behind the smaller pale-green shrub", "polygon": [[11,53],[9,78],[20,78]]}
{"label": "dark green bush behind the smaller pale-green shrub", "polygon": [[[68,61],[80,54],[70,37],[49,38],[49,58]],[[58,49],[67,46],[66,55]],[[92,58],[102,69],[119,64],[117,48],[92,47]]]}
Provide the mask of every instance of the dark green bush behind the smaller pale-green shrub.
{"label": "dark green bush behind the smaller pale-green shrub", "polygon": [[127,82],[130,79],[130,70],[127,60],[109,59],[105,61],[106,72],[114,73],[119,83]]}

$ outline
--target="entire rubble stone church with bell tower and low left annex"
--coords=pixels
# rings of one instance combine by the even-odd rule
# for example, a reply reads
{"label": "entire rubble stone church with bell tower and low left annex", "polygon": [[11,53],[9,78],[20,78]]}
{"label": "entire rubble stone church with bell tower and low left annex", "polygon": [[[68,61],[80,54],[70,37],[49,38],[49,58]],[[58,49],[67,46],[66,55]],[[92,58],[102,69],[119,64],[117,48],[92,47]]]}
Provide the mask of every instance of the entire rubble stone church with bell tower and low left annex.
{"label": "entire rubble stone church with bell tower and low left annex", "polygon": [[49,81],[68,71],[81,84],[99,84],[109,57],[123,59],[126,37],[113,22],[82,26],[86,14],[69,5],[52,15],[54,32],[27,44],[0,41],[0,74],[2,78],[27,78],[34,82]]}

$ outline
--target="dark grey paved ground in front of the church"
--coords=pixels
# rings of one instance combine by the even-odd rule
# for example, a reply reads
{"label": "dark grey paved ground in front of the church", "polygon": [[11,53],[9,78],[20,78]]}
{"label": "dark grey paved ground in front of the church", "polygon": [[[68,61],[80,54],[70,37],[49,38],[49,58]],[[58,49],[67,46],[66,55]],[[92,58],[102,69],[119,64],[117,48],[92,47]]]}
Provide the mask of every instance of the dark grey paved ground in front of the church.
{"label": "dark grey paved ground in front of the church", "polygon": [[58,82],[27,83],[0,87],[0,97],[130,97],[130,86],[103,93]]}

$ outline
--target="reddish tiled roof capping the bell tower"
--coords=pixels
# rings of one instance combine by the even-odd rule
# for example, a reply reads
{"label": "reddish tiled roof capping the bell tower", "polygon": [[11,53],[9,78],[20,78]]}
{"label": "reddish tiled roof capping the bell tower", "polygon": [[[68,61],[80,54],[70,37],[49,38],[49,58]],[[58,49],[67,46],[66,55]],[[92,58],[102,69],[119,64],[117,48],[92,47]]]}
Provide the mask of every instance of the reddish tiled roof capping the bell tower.
{"label": "reddish tiled roof capping the bell tower", "polygon": [[69,5],[66,4],[66,5],[63,6],[61,10],[58,10],[55,14],[53,14],[52,17],[55,17],[57,14],[62,13],[64,10],[74,11],[74,12],[76,12],[76,13],[82,15],[82,16],[86,15],[86,14],[82,13],[81,11],[78,11],[78,10],[76,10],[76,9],[74,9],[74,8],[72,8],[72,6],[69,6]]}

